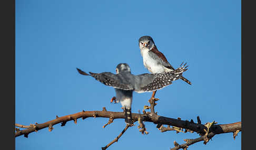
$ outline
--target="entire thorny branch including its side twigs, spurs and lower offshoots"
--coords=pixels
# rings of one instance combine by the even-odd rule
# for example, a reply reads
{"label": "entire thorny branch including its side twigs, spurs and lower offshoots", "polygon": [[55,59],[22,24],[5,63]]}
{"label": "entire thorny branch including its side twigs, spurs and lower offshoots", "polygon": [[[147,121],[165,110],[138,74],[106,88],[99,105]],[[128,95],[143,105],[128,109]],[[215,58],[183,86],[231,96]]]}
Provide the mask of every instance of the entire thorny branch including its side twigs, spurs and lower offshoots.
{"label": "entire thorny branch including its side twigs, spurs and lower offshoots", "polygon": [[[176,131],[176,133],[196,132],[201,136],[201,137],[195,138],[195,139],[185,139],[184,141],[186,143],[181,144],[181,145],[174,141],[175,147],[171,148],[171,150],[180,149],[180,148],[183,148],[184,150],[186,150],[189,147],[189,145],[192,145],[192,144],[200,142],[200,141],[204,141],[204,144],[206,144],[216,134],[232,132],[233,138],[235,138],[235,136],[237,136],[238,133],[241,131],[241,122],[216,125],[216,122],[213,121],[212,123],[208,122],[203,125],[203,124],[201,124],[201,120],[200,120],[199,116],[197,117],[198,123],[194,123],[193,120],[191,120],[191,121],[181,120],[180,118],[172,119],[170,117],[164,117],[164,116],[157,115],[157,113],[155,113],[155,111],[154,111],[154,106],[156,105],[155,101],[157,101],[157,100],[159,100],[159,99],[150,99],[149,100],[150,106],[144,106],[144,109],[151,109],[151,112],[146,112],[143,109],[143,114],[132,113],[132,120],[133,120],[133,122],[136,122],[136,121],[139,122],[138,128],[141,128],[139,131],[142,134],[148,133],[148,132],[146,132],[145,125],[143,124],[143,121],[146,121],[146,122],[152,122],[154,124],[157,124],[156,127],[159,128],[159,130],[161,130],[161,132],[172,131],[172,130]],[[77,119],[82,118],[84,120],[87,117],[109,118],[109,122],[107,122],[103,126],[103,128],[106,125],[111,124],[114,119],[125,119],[124,112],[107,111],[105,107],[103,108],[102,111],[84,111],[83,110],[81,112],[62,116],[62,117],[58,117],[56,115],[56,119],[45,122],[45,123],[41,123],[41,124],[35,123],[35,124],[30,124],[29,126],[15,124],[15,126],[17,126],[17,127],[26,128],[24,130],[19,130],[19,128],[15,128],[15,130],[16,130],[15,137],[21,136],[21,135],[28,137],[29,133],[37,132],[38,130],[41,130],[46,127],[48,127],[48,130],[51,132],[54,129],[53,126],[55,124],[61,123],[61,126],[64,126],[66,124],[66,122],[72,121],[72,120],[76,124]],[[168,127],[164,127],[163,125],[168,125]],[[172,127],[170,127],[170,125]],[[130,127],[129,125],[126,125],[124,130],[112,142],[107,144],[105,147],[102,147],[102,149],[106,149],[113,143],[117,142],[119,140],[119,138],[124,134],[124,132],[129,127]],[[183,129],[185,131],[183,131]]]}

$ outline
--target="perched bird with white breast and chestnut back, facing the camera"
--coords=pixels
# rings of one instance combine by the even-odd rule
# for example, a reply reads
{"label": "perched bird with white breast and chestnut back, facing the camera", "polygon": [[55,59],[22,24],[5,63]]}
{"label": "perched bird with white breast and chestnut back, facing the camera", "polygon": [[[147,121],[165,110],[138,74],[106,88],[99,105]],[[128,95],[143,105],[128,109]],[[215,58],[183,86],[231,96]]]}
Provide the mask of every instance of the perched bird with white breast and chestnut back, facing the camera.
{"label": "perched bird with white breast and chestnut back, facing the camera", "polygon": [[[143,57],[143,65],[147,70],[149,70],[149,72],[163,73],[175,70],[163,53],[156,48],[152,37],[140,37],[139,47],[141,50],[141,56]],[[191,85],[191,82],[183,76],[181,76],[180,79]],[[155,93],[156,91],[152,93],[151,99],[155,97]]]}

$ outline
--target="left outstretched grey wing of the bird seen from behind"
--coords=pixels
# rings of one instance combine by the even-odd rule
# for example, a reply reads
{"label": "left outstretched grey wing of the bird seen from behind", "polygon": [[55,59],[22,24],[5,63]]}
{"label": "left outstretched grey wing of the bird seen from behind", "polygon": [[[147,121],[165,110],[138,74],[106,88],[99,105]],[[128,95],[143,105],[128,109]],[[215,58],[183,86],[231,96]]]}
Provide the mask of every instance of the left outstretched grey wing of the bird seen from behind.
{"label": "left outstretched grey wing of the bird seen from behind", "polygon": [[122,80],[117,76],[117,74],[113,74],[111,72],[102,72],[102,73],[89,72],[90,74],[88,74],[82,71],[81,69],[78,69],[78,68],[76,69],[80,74],[83,74],[85,76],[92,76],[97,81],[100,81],[101,83],[108,85],[110,87],[114,87],[122,90],[133,90],[133,86],[131,84],[123,83]]}

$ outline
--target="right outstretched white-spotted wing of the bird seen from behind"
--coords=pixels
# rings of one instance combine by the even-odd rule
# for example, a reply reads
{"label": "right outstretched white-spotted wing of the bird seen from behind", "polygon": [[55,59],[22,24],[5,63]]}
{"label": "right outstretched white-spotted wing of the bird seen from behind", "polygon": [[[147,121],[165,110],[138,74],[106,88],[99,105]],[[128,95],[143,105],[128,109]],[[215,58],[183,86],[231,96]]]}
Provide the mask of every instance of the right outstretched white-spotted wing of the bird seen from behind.
{"label": "right outstretched white-spotted wing of the bird seen from behind", "polygon": [[152,92],[155,90],[160,90],[170,84],[172,81],[178,80],[182,76],[182,72],[186,71],[186,67],[180,67],[174,71],[156,74],[140,74],[135,76],[135,92]]}

